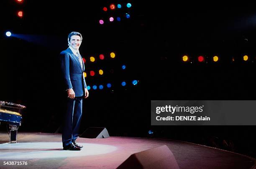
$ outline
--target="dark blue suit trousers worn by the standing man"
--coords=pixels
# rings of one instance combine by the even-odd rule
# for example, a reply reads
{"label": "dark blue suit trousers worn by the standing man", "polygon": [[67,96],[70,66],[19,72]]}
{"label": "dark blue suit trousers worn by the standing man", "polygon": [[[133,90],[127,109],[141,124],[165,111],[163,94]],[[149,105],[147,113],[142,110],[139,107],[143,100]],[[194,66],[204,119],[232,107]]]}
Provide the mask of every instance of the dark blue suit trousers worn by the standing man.
{"label": "dark blue suit trousers worn by the standing man", "polygon": [[66,110],[64,115],[64,124],[62,132],[63,147],[71,144],[78,137],[79,127],[82,117],[82,99],[83,97],[67,98]]}

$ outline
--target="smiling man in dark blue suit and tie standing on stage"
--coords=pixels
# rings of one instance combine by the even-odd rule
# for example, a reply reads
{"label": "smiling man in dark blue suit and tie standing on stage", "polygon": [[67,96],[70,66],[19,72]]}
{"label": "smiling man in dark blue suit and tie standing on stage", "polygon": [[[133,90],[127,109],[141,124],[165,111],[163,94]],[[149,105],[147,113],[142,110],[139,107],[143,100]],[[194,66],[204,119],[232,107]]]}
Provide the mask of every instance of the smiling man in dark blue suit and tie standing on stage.
{"label": "smiling man in dark blue suit and tie standing on stage", "polygon": [[81,150],[83,147],[75,142],[82,117],[82,98],[89,96],[83,73],[84,62],[79,53],[81,42],[82,35],[79,32],[71,32],[68,36],[69,48],[60,53],[61,72],[67,92],[62,132],[64,150]]}

